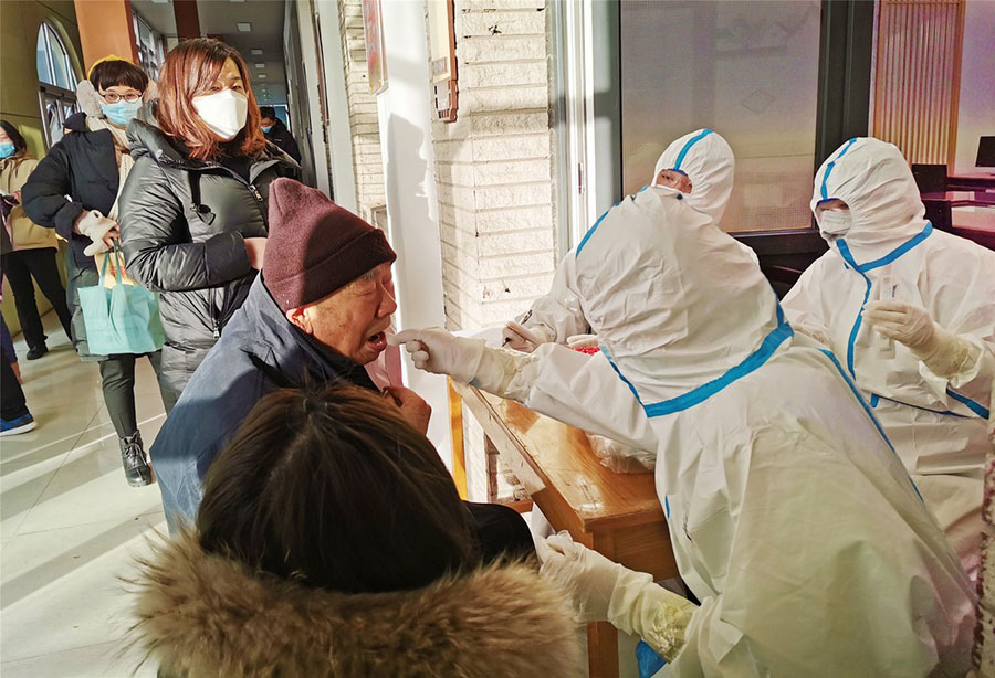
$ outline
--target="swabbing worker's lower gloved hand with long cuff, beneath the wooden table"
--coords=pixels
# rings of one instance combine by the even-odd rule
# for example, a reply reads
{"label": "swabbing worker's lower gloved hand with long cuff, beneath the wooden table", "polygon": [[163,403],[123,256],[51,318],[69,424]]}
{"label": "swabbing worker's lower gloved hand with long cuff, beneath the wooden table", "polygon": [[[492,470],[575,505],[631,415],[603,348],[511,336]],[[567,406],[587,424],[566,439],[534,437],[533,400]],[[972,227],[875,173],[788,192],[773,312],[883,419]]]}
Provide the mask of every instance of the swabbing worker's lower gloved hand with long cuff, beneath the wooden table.
{"label": "swabbing worker's lower gloved hand with long cuff, beneath the wooden table", "polygon": [[684,629],[698,606],[597,551],[566,532],[536,542],[540,573],[564,589],[582,622],[608,621],[635,634],[672,661],[684,645]]}

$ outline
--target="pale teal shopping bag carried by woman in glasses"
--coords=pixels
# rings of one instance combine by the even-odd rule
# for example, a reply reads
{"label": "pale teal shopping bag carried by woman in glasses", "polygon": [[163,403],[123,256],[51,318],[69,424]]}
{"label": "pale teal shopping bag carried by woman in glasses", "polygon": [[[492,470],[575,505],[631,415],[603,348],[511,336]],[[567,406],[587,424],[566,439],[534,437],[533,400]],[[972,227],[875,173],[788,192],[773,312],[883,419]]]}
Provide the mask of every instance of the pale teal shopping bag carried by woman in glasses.
{"label": "pale teal shopping bag carried by woman in glasses", "polygon": [[[123,261],[117,242],[114,243],[114,256]],[[158,351],[166,341],[158,296],[138,285],[123,284],[119,265],[114,267],[116,285],[112,289],[104,287],[108,258],[111,253],[101,265],[100,285],[80,288],[90,352],[115,356]]]}

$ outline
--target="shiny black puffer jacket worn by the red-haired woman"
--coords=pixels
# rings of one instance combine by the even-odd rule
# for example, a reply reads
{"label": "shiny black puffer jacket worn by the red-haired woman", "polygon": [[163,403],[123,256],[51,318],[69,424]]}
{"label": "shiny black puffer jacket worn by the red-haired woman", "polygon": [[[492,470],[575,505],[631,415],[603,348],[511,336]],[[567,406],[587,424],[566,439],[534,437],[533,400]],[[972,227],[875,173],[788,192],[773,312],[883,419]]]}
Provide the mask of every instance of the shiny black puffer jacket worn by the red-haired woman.
{"label": "shiny black puffer jacket worn by the red-haired woman", "polygon": [[244,239],[268,234],[270,183],[300,168],[268,145],[247,182],[190,158],[151,115],[143,117],[128,127],[135,167],[121,195],[122,246],[128,273],[161,293],[163,380],[179,395],[255,278]]}

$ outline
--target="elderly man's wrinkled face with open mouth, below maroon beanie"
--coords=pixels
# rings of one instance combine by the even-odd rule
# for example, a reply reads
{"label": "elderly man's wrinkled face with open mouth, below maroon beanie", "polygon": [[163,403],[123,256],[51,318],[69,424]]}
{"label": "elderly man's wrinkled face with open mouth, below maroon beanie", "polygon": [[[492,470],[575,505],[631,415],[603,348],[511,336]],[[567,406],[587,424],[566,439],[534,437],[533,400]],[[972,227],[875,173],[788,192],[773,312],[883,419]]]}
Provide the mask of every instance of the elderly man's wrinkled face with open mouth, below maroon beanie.
{"label": "elderly man's wrinkled face with open mouth, below maroon beanie", "polygon": [[286,311],[301,331],[357,364],[387,348],[385,330],[397,310],[390,264],[380,264],[327,297]]}

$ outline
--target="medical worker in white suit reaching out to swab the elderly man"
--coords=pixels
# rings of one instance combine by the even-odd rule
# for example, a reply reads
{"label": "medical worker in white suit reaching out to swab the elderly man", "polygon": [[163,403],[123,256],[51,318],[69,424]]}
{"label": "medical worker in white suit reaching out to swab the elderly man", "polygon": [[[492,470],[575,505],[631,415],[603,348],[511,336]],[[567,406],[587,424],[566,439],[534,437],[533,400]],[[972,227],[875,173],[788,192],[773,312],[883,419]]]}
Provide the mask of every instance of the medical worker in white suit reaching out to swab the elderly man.
{"label": "medical worker in white suit reaching out to swab the elderly man", "polygon": [[936,521],[831,353],[793,343],[752,252],[682,198],[626,198],[567,262],[600,353],[396,340],[422,369],[657,449],[700,607],[566,536],[540,553],[582,618],[669,661],[659,676],[962,676],[974,594]]}

